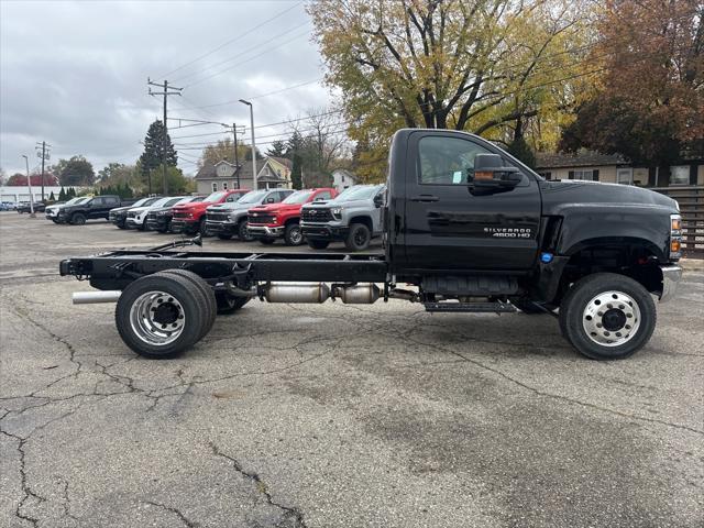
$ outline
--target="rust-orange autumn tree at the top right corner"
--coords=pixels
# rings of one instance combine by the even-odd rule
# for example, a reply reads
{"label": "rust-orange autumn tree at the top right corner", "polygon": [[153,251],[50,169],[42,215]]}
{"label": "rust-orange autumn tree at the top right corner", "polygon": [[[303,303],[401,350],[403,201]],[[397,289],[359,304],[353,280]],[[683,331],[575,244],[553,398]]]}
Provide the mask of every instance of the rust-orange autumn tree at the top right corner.
{"label": "rust-orange autumn tree at the top right corner", "polygon": [[560,146],[649,166],[704,155],[704,2],[609,0],[597,29],[601,88],[580,106]]}

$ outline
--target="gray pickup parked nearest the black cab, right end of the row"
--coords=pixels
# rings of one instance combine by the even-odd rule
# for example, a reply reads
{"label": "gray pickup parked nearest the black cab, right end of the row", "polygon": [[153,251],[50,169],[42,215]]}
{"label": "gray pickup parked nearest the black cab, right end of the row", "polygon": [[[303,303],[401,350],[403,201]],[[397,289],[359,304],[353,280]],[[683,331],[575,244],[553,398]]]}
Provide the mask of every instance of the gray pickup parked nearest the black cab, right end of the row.
{"label": "gray pickup parked nearest the black cab, right end of the row", "polygon": [[367,249],[383,231],[384,189],[384,185],[355,185],[332,200],[304,206],[300,227],[308,245],[323,250],[332,241],[343,241],[352,251]]}

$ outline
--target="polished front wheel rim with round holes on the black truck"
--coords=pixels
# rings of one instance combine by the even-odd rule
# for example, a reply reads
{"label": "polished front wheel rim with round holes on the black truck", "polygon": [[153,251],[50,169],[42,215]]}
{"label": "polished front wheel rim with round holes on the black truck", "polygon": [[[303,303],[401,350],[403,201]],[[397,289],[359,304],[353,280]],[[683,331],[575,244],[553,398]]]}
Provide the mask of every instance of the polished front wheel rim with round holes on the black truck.
{"label": "polished front wheel rim with round holes on the black truck", "polygon": [[618,346],[640,327],[638,304],[623,292],[604,292],[586,304],[582,315],[586,336],[602,346]]}

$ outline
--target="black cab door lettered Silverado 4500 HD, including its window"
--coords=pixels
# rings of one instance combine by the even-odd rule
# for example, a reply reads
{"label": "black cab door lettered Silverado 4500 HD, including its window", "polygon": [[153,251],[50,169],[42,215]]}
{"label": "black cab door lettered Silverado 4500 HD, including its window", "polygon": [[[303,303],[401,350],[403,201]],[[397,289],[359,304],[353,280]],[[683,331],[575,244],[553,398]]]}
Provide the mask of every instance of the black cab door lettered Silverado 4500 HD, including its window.
{"label": "black cab door lettered Silverado 4500 HD, including its window", "polygon": [[487,142],[451,131],[409,136],[406,172],[406,267],[526,270],[536,260],[541,213],[538,182],[520,168],[509,190],[473,194],[474,157],[499,154]]}

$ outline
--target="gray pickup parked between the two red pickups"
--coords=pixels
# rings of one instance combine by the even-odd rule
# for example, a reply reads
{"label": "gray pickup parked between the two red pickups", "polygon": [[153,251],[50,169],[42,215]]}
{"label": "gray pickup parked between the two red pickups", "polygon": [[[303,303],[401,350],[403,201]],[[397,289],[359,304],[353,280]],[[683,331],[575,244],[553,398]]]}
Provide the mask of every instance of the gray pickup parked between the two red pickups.
{"label": "gray pickup parked between the two red pickups", "polygon": [[206,210],[206,229],[222,240],[237,235],[249,242],[253,239],[246,229],[246,211],[263,204],[278,204],[292,193],[290,189],[252,190],[238,201],[210,206]]}

